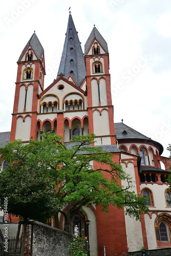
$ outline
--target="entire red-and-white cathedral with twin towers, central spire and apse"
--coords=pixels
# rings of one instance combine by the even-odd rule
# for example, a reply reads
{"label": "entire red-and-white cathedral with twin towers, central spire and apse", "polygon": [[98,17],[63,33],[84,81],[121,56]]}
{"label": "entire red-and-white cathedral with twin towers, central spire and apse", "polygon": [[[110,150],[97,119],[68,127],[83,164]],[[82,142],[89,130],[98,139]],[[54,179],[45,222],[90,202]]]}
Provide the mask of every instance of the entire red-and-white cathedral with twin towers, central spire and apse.
{"label": "entire red-and-white cathedral with twin towers, central spire and apse", "polygon": [[[0,133],[0,146],[15,139],[40,140],[48,131],[61,135],[65,142],[75,135],[94,133],[96,145],[108,148],[115,162],[133,178],[136,194],[149,199],[150,212],[141,222],[114,206],[106,216],[95,205],[83,207],[84,214],[77,218],[81,227],[87,219],[91,221],[91,256],[104,255],[104,246],[109,256],[127,255],[141,247],[171,247],[171,204],[167,202],[171,199],[167,183],[171,160],[161,156],[163,146],[157,141],[123,120],[114,123],[108,44],[97,28],[93,27],[83,54],[70,12],[58,73],[46,89],[44,48],[35,33],[21,49],[17,65],[11,132]],[[0,160],[3,170],[6,161],[2,156]],[[161,169],[160,161],[165,169]],[[64,221],[59,215],[60,229]],[[55,226],[53,219],[50,223]],[[73,225],[70,232],[74,233]]]}

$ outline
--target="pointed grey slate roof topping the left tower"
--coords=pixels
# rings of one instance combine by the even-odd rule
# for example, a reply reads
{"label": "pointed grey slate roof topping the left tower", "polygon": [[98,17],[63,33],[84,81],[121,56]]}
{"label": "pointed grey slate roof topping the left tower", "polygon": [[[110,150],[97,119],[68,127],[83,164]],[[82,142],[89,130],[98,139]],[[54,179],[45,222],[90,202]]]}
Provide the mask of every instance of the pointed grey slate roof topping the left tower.
{"label": "pointed grey slate roof topping the left tower", "polygon": [[[40,41],[39,41],[36,33],[33,33],[33,35],[30,37],[27,45],[25,46],[22,53],[20,54],[19,59],[22,57],[22,55],[24,54],[25,50],[27,49],[27,47],[29,45],[32,47],[33,51],[35,52],[37,59],[41,59],[41,56],[44,52],[44,48],[40,44]],[[18,59],[18,61],[19,61],[19,59]]]}

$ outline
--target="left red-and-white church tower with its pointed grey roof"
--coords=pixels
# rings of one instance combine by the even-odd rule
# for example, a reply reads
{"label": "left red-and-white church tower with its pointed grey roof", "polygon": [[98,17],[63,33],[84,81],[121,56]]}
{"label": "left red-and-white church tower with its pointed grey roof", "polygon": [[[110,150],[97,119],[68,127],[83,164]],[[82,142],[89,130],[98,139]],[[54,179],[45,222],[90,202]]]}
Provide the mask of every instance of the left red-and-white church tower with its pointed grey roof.
{"label": "left red-and-white church tower with its pointed grey roof", "polygon": [[17,61],[18,71],[10,141],[37,138],[37,95],[44,90],[45,57],[37,35],[29,39]]}

